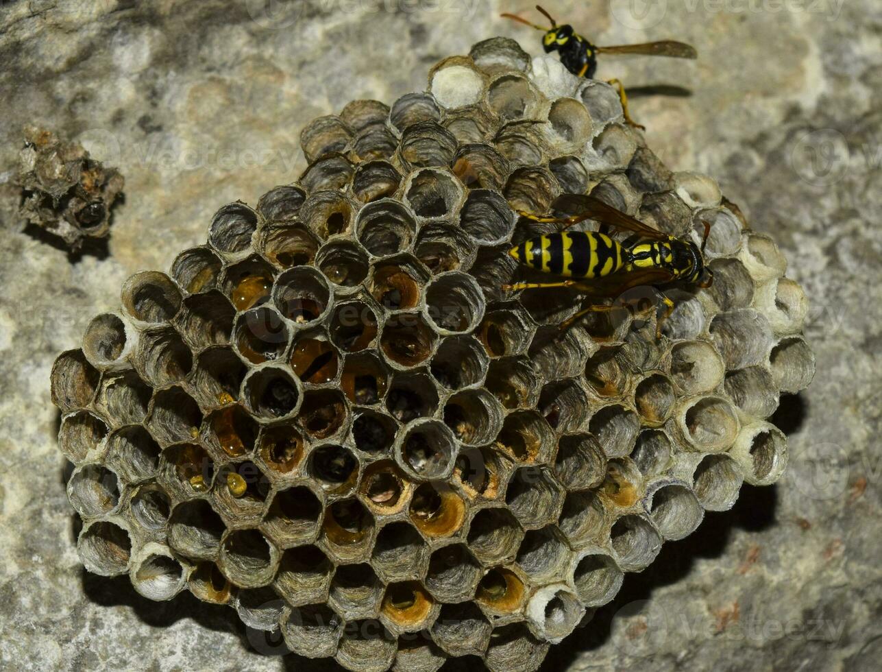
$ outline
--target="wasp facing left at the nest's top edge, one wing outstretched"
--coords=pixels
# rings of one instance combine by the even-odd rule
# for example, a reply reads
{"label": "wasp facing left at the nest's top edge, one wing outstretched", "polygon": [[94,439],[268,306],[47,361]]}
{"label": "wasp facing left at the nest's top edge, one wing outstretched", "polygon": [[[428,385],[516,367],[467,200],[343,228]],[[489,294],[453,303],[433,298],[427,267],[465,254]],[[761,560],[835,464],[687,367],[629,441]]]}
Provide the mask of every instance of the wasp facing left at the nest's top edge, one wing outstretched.
{"label": "wasp facing left at the nest's top edge, one wing outstretched", "polygon": [[[643,56],[665,56],[671,58],[696,58],[698,54],[695,48],[684,42],[675,42],[673,40],[662,40],[661,42],[644,42],[641,44],[623,44],[615,47],[598,47],[588,42],[580,34],[576,33],[572,26],[566,24],[558,26],[557,21],[551,18],[551,15],[542,9],[538,4],[536,9],[542,12],[542,15],[549,19],[551,26],[536,26],[527,19],[521,19],[517,14],[501,14],[505,19],[512,19],[530,26],[536,30],[541,30],[545,35],[542,37],[542,46],[545,53],[557,51],[560,54],[560,62],[564,67],[577,77],[585,77],[586,79],[594,79],[594,72],[597,70],[598,54],[641,54]],[[624,86],[618,79],[607,79],[610,84],[618,89],[618,97],[622,101],[622,114],[627,124],[644,128],[637,124],[628,113],[628,96],[624,93]]]}

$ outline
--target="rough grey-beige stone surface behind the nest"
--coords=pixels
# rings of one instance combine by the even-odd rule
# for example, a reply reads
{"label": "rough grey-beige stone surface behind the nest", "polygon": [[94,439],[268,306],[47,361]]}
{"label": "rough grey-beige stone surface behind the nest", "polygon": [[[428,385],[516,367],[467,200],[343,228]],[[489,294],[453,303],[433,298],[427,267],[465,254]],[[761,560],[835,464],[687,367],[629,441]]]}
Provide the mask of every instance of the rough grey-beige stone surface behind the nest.
{"label": "rough grey-beige stone surface behind the nest", "polygon": [[[0,668],[331,669],[278,657],[235,613],[157,604],[87,575],[56,449],[49,368],[125,277],[168,268],[213,211],[303,169],[297,137],[350,99],[422,90],[430,64],[494,34],[541,54],[497,0],[0,0]],[[782,400],[790,466],[745,486],[629,575],[546,670],[875,670],[882,656],[879,278],[882,4],[563,0],[602,44],[691,42],[697,63],[604,59],[647,140],[717,177],[774,235],[811,298],[814,384]],[[536,16],[536,19],[539,19]],[[83,141],[126,178],[108,245],[70,255],[21,230],[21,126]],[[257,651],[256,651],[257,649]],[[258,652],[262,652],[258,653]]]}

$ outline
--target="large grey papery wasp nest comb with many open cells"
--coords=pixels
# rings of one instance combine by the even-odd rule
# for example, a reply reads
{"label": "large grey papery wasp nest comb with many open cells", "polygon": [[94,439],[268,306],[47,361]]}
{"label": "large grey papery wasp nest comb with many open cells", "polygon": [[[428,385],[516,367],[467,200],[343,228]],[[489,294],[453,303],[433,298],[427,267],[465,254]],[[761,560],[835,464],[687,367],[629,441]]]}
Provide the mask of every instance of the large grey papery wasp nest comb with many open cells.
{"label": "large grey papery wasp nest comb with many open cells", "polygon": [[[493,39],[429,93],[307,124],[294,185],[221,208],[56,360],[86,569],[350,669],[533,669],[664,540],[777,479],[804,293],[714,180],[621,122],[612,88]],[[714,286],[660,341],[624,311],[561,334],[574,295],[500,285],[548,226],[512,208],[562,192],[711,221]]]}

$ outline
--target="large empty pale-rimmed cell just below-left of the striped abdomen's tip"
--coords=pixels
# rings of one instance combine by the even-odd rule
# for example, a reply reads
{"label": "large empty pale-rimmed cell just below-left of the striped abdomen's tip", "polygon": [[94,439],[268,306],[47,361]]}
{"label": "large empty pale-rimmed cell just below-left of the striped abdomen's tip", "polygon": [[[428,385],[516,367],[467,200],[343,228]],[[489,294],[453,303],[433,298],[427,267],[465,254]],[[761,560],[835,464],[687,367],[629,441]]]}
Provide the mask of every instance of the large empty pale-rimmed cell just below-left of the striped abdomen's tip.
{"label": "large empty pale-rimmed cell just below-left of the striped abdomen's tip", "polygon": [[465,273],[443,273],[433,278],[426,288],[426,314],[440,334],[472,331],[483,313],[481,288]]}

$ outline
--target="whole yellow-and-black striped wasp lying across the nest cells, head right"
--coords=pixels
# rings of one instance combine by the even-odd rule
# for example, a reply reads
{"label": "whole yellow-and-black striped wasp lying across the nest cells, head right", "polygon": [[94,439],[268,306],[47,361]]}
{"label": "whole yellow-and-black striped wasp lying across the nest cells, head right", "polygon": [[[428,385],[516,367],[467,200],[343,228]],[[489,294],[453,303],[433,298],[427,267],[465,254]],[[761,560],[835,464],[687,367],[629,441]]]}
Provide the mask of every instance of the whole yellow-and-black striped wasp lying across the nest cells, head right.
{"label": "whole yellow-and-black striped wasp lying across the nest cells, head right", "polygon": [[[674,310],[674,302],[657,285],[683,283],[694,287],[710,287],[714,274],[704,260],[710,223],[705,222],[701,245],[655,230],[631,215],[625,215],[602,200],[586,194],[564,194],[552,204],[559,212],[572,212],[567,217],[534,215],[523,210],[518,214],[534,222],[562,223],[564,228],[593,219],[609,227],[631,231],[632,236],[619,243],[601,231],[557,231],[548,233],[509,250],[519,264],[542,273],[566,278],[551,283],[505,284],[509,291],[571,287],[593,298],[619,298],[625,291],[651,286],[666,306],[656,321],[656,336],[662,337],[662,324]],[[618,306],[593,305],[564,321],[560,328],[587,313],[617,310]]]}

